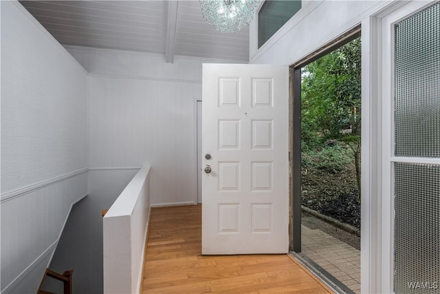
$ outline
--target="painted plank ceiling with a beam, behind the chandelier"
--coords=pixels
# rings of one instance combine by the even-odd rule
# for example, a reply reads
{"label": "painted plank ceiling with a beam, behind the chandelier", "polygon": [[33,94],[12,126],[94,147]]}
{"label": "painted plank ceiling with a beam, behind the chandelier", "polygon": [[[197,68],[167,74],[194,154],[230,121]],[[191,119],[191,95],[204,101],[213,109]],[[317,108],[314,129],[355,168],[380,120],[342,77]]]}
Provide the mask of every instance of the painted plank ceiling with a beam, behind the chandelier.
{"label": "painted plank ceiling with a beam, behind the chandelier", "polygon": [[249,60],[249,28],[220,34],[199,1],[20,1],[63,45]]}

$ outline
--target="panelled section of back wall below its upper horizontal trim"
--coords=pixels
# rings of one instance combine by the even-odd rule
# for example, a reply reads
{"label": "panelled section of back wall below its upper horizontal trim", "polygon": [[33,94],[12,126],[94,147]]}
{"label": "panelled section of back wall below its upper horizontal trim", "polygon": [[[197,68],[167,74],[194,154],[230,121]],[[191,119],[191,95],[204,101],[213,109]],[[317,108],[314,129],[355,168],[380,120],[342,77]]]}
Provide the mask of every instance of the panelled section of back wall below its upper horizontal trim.
{"label": "panelled section of back wall below its upper horizontal trim", "polygon": [[188,203],[195,190],[198,84],[89,77],[89,165],[151,170],[154,204]]}

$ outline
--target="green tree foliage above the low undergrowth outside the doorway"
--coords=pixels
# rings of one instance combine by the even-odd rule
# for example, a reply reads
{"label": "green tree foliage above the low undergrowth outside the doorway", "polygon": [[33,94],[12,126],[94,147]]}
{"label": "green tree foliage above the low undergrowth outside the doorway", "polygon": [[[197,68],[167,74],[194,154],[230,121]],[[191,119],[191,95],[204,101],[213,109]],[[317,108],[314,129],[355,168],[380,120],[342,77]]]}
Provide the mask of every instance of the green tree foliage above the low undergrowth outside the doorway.
{"label": "green tree foliage above the low undergrowth outside the doorway", "polygon": [[360,38],[309,63],[302,72],[303,151],[345,143],[353,151],[360,196]]}

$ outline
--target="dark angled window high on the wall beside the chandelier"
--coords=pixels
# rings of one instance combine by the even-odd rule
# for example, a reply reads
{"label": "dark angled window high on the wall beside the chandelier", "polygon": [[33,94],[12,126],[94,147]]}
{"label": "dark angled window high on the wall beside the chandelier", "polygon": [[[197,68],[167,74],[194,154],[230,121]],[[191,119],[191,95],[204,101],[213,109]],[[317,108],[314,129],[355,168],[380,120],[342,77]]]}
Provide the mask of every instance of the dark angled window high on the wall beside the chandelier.
{"label": "dark angled window high on the wall beside the chandelier", "polygon": [[266,0],[259,12],[259,48],[300,9],[301,0]]}

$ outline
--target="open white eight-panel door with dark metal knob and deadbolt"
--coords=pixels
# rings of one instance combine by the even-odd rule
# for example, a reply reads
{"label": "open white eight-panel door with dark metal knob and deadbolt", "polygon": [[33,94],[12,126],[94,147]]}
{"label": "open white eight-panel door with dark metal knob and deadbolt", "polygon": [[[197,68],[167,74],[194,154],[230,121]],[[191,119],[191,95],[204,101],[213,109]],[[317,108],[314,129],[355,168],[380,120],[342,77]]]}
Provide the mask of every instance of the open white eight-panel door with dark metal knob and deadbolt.
{"label": "open white eight-panel door with dark metal knob and deadbolt", "polygon": [[287,253],[288,105],[287,66],[203,64],[203,254]]}

